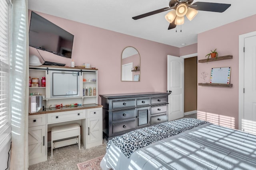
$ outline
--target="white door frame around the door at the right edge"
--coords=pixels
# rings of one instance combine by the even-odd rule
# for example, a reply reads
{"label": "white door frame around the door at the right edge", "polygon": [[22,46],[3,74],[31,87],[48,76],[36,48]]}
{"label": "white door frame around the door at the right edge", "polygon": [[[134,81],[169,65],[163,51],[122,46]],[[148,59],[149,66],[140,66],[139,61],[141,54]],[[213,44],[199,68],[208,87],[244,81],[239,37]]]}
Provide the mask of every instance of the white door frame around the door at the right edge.
{"label": "white door frame around the door at the right edge", "polygon": [[256,36],[256,31],[239,35],[239,53],[238,53],[238,129],[242,129],[242,118],[244,117],[244,39]]}

